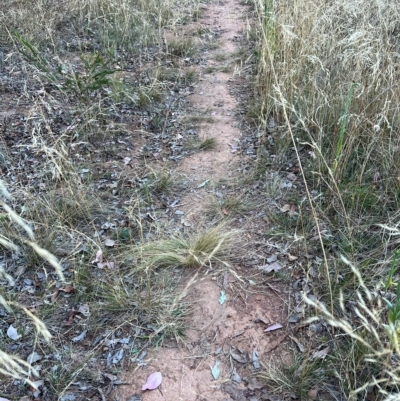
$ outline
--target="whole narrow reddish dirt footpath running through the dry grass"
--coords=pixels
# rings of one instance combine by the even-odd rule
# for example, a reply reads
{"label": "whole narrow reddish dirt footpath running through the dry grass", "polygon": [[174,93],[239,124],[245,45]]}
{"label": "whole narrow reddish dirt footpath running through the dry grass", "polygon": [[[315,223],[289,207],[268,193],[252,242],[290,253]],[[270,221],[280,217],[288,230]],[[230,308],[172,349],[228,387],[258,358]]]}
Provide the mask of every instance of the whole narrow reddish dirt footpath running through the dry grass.
{"label": "whole narrow reddish dirt footpath running through the dry grass", "polygon": [[[201,79],[189,98],[192,109],[208,117],[200,123],[199,136],[203,141],[210,139],[210,149],[185,158],[176,167],[177,172],[189,177],[191,185],[178,205],[181,223],[188,227],[207,220],[210,199],[218,197],[213,188],[237,178],[242,157],[236,152],[242,135],[241,114],[239,100],[232,93],[238,81],[243,84],[242,66],[235,62],[245,32],[245,7],[238,0],[213,1],[204,9],[196,26],[185,29],[185,32],[199,29],[200,24],[204,32],[219,36],[219,46],[200,57],[205,60],[196,71]],[[222,215],[228,213],[228,206],[222,207]],[[243,230],[240,236],[244,252],[246,249],[250,252],[254,225],[260,228],[247,218],[234,224]],[[129,384],[118,388],[115,399],[222,401],[266,397],[267,389],[252,373],[284,344],[284,332],[264,330],[284,321],[286,307],[282,299],[286,295],[278,288],[273,291],[265,285],[250,285],[257,281],[262,281],[257,267],[245,267],[240,262],[222,273],[214,274],[212,270],[199,273],[187,288],[186,299],[192,311],[183,342],[166,342],[149,352],[145,367],[132,364],[122,380]],[[277,355],[278,359],[284,359],[286,354],[280,350]],[[163,375],[160,389],[142,393],[147,376],[157,371]]]}

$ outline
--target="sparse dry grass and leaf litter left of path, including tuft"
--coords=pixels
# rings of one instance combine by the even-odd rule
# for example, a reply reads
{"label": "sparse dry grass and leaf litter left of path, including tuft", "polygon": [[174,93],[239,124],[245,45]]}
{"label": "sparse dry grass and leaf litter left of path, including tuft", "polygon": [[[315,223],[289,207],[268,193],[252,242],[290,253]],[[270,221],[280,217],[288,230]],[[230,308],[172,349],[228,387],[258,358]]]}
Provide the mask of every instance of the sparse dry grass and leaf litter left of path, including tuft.
{"label": "sparse dry grass and leaf litter left of path, including tuft", "polygon": [[152,152],[173,146],[160,101],[196,80],[180,68],[196,41],[179,32],[200,7],[0,2],[1,396],[62,399],[87,382],[104,398],[105,368],[184,335],[192,268],[226,262],[233,233],[162,218],[183,187],[143,145],[156,132]]}

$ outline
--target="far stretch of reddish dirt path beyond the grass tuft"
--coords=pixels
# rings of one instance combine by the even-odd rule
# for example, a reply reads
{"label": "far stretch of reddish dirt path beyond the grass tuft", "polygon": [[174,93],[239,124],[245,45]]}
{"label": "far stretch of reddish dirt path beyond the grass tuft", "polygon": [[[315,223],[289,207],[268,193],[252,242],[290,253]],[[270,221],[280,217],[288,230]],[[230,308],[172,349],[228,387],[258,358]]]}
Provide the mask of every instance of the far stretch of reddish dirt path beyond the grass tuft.
{"label": "far stretch of reddish dirt path beyond the grass tuft", "polygon": [[[204,13],[201,24],[212,32],[220,33],[220,46],[211,51],[208,66],[217,71],[223,69],[234,58],[238,50],[237,39],[243,35],[243,5],[238,1],[214,1]],[[222,61],[217,61],[219,58]],[[237,100],[230,94],[229,83],[232,72],[215,72],[201,77],[190,101],[193,108],[209,116],[212,121],[204,122],[199,128],[201,139],[215,138],[217,146],[208,152],[198,152],[180,165],[180,170],[190,174],[194,183],[201,185],[205,180],[211,183],[235,175],[236,151],[240,130],[235,119]],[[191,195],[182,201],[183,210],[191,220],[199,220],[203,213],[204,196],[207,187],[199,189],[194,185]]]}

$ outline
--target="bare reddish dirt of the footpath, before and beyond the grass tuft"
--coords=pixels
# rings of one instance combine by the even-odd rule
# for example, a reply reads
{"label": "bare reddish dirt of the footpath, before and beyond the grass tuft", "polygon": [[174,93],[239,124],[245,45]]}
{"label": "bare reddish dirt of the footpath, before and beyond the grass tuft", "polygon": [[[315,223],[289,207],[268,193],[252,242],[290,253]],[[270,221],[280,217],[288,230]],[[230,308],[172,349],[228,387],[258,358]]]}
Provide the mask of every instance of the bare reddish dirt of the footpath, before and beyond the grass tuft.
{"label": "bare reddish dirt of the footpath, before and beyond the grass tuft", "polygon": [[[213,57],[225,54],[233,59],[238,50],[238,38],[243,35],[246,6],[238,0],[213,1],[207,6],[200,20],[204,28],[221,33],[220,46],[210,51],[208,65],[223,67],[225,61],[218,62]],[[200,70],[198,71],[200,73]],[[229,84],[232,73],[210,73],[202,75],[195,93],[190,97],[192,106],[198,111],[207,112],[212,122],[199,127],[201,138],[214,137],[218,143],[215,149],[199,152],[184,159],[177,171],[190,176],[193,188],[181,199],[180,207],[185,219],[191,225],[204,220],[203,208],[206,201],[206,188],[198,188],[205,180],[217,182],[235,175],[236,160],[234,152],[236,140],[240,137],[239,124],[235,120],[238,102],[230,94]],[[237,280],[234,275],[225,273],[225,284]],[[164,345],[149,352],[146,366],[132,366],[123,375],[123,382],[114,393],[119,401],[229,401],[247,400],[251,389],[257,388],[251,373],[254,372],[252,356],[265,359],[267,353],[282,341],[282,338],[268,337],[262,321],[274,323],[283,319],[282,301],[273,294],[256,291],[248,294],[245,302],[229,297],[223,305],[219,304],[220,288],[209,276],[197,276],[188,288],[187,300],[193,305],[188,318],[185,344]],[[232,298],[231,300],[229,298]],[[277,341],[278,340],[278,341]],[[232,354],[233,353],[233,354]],[[238,355],[239,354],[239,355]],[[232,358],[232,355],[236,356]],[[238,363],[242,358],[244,363]],[[220,375],[214,380],[211,368],[219,363]],[[159,371],[163,375],[160,389],[141,391],[150,373]],[[232,382],[236,372],[247,381]],[[236,381],[240,381],[238,376]],[[249,383],[253,382],[251,387]],[[254,398],[253,398],[254,399]]]}

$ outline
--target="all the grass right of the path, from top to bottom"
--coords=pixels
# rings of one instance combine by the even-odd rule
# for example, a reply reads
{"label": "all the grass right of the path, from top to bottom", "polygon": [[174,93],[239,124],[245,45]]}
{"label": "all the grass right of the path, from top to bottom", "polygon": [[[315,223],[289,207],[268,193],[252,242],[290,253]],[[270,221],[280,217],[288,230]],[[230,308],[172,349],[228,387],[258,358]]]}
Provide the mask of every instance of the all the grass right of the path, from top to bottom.
{"label": "all the grass right of the path, from top to bottom", "polygon": [[303,266],[313,286],[304,296],[325,327],[309,332],[323,357],[305,352],[263,377],[302,399],[318,391],[399,399],[400,5],[265,0],[255,8],[259,164],[303,181],[295,238],[303,254],[320,257]]}

